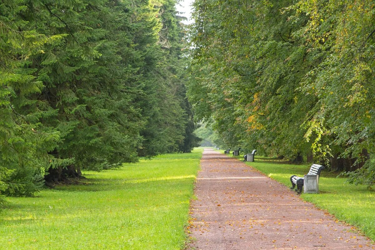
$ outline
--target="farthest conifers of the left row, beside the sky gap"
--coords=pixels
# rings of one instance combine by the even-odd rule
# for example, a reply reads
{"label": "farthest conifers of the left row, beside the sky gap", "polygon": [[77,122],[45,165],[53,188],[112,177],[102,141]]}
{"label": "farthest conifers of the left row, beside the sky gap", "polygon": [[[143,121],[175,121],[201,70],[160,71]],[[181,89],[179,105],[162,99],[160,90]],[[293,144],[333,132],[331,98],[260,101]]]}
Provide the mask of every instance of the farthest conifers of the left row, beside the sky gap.
{"label": "farthest conifers of the left row, beside the sky gap", "polygon": [[[180,17],[176,15],[176,1],[163,1],[160,9],[153,10],[151,20],[160,17],[157,45],[149,46],[147,64],[141,68],[145,81],[145,97],[141,101],[142,117],[147,119],[141,130],[143,143],[138,151],[140,156],[155,156],[166,152],[190,152],[198,146],[199,139],[192,132],[196,129],[193,113],[186,99],[183,84],[186,57],[184,48],[184,30]],[[151,33],[151,30],[148,31]],[[162,58],[162,60],[160,60]]]}

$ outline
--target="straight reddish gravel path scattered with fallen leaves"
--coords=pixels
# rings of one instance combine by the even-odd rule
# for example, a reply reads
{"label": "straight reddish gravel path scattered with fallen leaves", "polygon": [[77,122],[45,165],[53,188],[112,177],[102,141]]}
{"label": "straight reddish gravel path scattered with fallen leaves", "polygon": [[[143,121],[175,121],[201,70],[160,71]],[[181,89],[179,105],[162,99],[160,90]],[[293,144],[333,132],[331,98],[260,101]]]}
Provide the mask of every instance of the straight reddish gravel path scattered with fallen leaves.
{"label": "straight reddish gravel path scattered with fallen leaves", "polygon": [[371,241],[237,159],[205,149],[190,249],[375,249]]}

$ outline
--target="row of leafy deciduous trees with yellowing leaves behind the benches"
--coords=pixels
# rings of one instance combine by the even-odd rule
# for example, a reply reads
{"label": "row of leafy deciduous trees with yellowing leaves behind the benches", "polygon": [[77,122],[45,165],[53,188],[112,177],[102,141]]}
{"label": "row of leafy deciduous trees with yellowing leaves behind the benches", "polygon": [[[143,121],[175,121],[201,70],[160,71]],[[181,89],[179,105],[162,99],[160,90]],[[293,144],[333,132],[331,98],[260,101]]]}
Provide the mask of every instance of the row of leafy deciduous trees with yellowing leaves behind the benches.
{"label": "row of leafy deciduous trees with yellowing leaves behind the benches", "polygon": [[[375,3],[196,0],[188,96],[216,143],[375,183]],[[220,143],[219,143],[220,142]]]}

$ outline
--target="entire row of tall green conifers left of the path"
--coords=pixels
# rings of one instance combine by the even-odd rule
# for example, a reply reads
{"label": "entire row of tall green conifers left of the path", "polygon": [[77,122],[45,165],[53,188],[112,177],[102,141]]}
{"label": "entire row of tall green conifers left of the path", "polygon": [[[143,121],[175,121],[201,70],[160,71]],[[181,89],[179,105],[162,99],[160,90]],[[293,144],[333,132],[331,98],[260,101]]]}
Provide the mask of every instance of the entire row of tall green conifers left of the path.
{"label": "entire row of tall green conifers left of the path", "polygon": [[0,203],[197,145],[175,4],[1,1]]}

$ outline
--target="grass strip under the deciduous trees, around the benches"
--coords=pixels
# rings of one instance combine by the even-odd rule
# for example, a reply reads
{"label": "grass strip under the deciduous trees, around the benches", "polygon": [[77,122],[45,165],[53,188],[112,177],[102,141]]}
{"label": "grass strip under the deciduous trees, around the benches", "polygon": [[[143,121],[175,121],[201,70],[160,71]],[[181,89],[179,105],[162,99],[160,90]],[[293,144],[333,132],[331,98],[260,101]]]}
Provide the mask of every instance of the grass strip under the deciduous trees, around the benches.
{"label": "grass strip under the deciduous trees, around the benches", "polygon": [[[236,157],[243,159],[243,155]],[[255,162],[247,165],[258,169],[272,179],[291,187],[291,175],[303,175],[309,172],[311,164],[287,164],[283,161],[255,156]],[[366,236],[375,240],[375,192],[366,186],[354,186],[346,178],[336,178],[338,174],[322,171],[319,178],[319,194],[302,193],[301,198],[327,210],[337,219],[356,226]]]}

